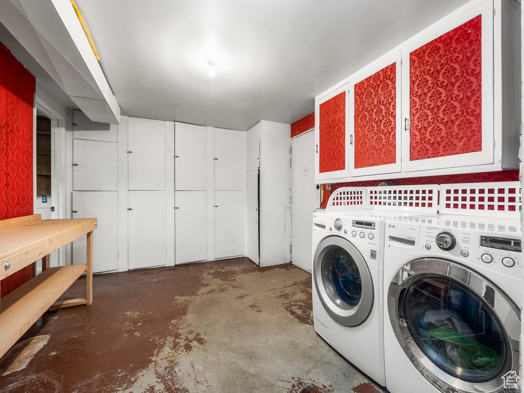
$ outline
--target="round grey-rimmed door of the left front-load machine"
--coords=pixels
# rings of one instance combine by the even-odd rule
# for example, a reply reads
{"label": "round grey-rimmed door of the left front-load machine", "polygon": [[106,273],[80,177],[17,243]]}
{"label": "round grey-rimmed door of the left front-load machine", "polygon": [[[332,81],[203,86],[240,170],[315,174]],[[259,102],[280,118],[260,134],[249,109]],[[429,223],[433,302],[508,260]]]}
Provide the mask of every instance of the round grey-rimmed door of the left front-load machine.
{"label": "round grey-rimmed door of the left front-load machine", "polygon": [[327,237],[316,248],[313,280],[324,309],[344,326],[362,324],[373,309],[373,280],[366,261],[340,236]]}

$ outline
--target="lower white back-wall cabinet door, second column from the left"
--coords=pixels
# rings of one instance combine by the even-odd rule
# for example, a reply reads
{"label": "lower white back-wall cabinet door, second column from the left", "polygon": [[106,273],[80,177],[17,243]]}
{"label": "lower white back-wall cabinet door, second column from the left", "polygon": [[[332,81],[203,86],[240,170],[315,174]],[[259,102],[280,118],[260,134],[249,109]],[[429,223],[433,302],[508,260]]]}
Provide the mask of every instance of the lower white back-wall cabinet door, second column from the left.
{"label": "lower white back-wall cabinet door, second column from the left", "polygon": [[128,192],[129,269],[166,265],[166,192]]}

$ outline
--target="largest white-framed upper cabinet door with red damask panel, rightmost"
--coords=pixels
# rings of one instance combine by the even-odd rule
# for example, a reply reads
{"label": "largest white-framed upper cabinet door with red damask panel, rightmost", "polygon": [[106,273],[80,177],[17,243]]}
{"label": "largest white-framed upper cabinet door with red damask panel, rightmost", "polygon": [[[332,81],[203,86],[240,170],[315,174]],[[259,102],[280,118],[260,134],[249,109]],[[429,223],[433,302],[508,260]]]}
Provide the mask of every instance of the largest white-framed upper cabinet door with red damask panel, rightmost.
{"label": "largest white-framed upper cabinet door with red damask panel, rightmost", "polygon": [[403,169],[493,163],[493,3],[410,41],[402,63]]}

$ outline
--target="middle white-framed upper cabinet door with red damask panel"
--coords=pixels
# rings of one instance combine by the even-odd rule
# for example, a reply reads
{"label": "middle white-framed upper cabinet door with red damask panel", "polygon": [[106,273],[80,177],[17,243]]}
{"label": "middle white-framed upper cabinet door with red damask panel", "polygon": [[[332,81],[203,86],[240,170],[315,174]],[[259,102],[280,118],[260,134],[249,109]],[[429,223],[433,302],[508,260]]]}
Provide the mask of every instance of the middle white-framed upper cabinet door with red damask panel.
{"label": "middle white-framed upper cabinet door with red damask panel", "polygon": [[350,83],[351,176],[401,170],[401,54],[384,56]]}

